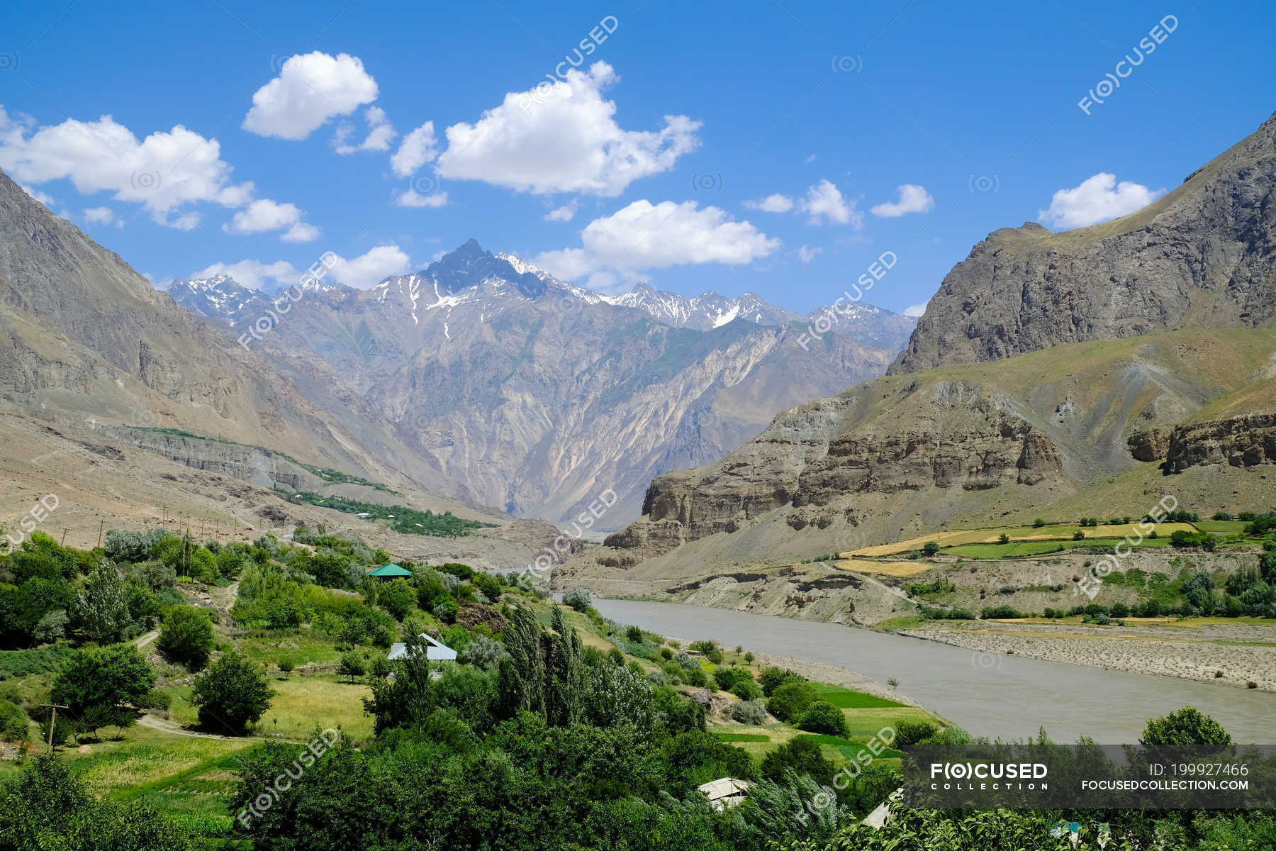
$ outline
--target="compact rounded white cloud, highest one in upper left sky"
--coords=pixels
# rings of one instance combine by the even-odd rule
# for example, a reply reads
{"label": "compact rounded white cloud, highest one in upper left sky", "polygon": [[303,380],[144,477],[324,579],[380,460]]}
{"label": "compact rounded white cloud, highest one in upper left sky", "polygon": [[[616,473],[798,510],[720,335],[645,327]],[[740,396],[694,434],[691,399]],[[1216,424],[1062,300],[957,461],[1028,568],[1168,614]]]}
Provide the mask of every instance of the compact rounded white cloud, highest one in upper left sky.
{"label": "compact rounded white cloud, highest one in upper left sky", "polygon": [[357,56],[296,55],[253,94],[244,129],[262,137],[305,139],[324,121],[376,100],[376,80]]}

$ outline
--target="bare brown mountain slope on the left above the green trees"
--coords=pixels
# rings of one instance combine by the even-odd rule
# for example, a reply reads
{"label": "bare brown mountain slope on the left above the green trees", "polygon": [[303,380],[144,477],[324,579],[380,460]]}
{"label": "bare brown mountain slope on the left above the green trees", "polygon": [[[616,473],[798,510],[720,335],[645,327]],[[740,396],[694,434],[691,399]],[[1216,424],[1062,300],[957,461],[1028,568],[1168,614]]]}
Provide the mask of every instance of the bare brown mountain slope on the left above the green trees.
{"label": "bare brown mountain slope on the left above the green trees", "polygon": [[[339,396],[339,381],[328,388]],[[296,508],[268,490],[295,482],[341,492],[302,475],[305,467],[285,458],[291,455],[383,482],[397,500],[421,510],[499,523],[453,546],[480,563],[524,566],[558,535],[549,524],[519,526],[499,509],[435,492],[425,482],[440,473],[374,408],[338,416],[308,396],[260,352],[156,292],[117,255],[0,174],[0,438],[6,447],[0,452],[6,482],[0,523],[11,526],[9,518],[46,494],[59,496],[52,522],[74,540],[93,537],[108,523],[170,513],[209,526],[282,523],[279,531],[306,514],[332,526],[352,523],[348,514]],[[370,522],[359,526],[374,537],[393,535]],[[396,551],[439,545],[398,537],[408,542]]]}

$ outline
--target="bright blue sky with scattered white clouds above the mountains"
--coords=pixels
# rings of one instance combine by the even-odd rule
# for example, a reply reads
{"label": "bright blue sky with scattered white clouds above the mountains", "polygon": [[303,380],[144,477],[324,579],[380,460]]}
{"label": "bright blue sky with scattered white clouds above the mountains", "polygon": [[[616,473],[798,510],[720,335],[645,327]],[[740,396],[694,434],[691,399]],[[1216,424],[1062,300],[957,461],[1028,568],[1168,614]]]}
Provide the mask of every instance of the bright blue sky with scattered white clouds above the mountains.
{"label": "bright blue sky with scattered white clouds above the mountains", "polygon": [[902,311],[989,231],[1129,212],[1276,110],[1270,3],[0,15],[0,167],[158,283],[273,288],[333,251],[370,286],[476,237],[596,288],[805,311],[889,250],[872,300]]}

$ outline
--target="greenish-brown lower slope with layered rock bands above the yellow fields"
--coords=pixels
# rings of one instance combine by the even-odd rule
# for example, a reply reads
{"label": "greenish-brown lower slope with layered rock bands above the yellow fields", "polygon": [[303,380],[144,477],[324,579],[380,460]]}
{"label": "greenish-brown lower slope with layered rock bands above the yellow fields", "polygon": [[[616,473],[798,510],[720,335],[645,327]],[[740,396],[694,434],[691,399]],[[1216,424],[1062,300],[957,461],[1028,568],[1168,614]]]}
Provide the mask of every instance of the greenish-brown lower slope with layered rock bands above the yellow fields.
{"label": "greenish-brown lower slope with layered rock bands above the yellow fields", "polygon": [[[1169,332],[887,376],[657,477],[644,517],[556,582],[648,593],[943,528],[1138,517],[1164,494],[1211,513],[1266,508],[1272,410],[1273,330]],[[1132,440],[1151,431],[1168,436],[1151,450]]]}

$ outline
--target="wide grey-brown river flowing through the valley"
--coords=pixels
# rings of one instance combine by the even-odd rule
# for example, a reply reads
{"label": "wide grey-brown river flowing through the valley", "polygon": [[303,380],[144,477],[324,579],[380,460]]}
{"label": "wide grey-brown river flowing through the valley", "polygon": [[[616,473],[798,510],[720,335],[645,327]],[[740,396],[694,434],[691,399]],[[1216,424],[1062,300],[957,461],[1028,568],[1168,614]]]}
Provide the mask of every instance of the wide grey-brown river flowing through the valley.
{"label": "wide grey-brown river flowing through the valley", "polygon": [[[1099,744],[1138,739],[1148,718],[1193,706],[1234,741],[1276,744],[1276,694],[1127,674],[1022,656],[972,653],[920,638],[726,609],[634,600],[593,601],[604,616],[662,635],[712,638],[775,656],[837,665],[886,683],[979,736],[1090,736]],[[1096,643],[1096,652],[1102,644]]]}

